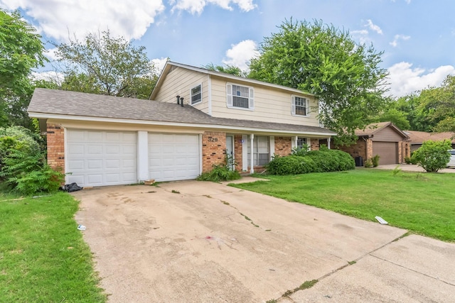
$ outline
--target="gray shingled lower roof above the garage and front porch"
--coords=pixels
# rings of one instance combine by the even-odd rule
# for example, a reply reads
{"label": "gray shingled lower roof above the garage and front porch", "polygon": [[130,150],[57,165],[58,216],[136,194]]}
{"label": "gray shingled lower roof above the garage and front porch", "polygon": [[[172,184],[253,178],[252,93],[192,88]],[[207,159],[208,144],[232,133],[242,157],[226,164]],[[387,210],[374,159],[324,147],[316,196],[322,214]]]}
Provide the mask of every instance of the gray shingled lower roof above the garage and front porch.
{"label": "gray shingled lower roof above the garage and front porch", "polygon": [[232,128],[261,128],[264,131],[297,131],[323,133],[332,136],[334,133],[326,128],[316,126],[299,126],[286,123],[269,123],[260,121],[216,118],[186,104],[112,97],[100,94],[87,94],[55,89],[37,88],[28,106],[30,116],[50,118],[50,116],[80,116],[100,119],[126,119],[134,121],[158,121],[200,125],[217,125]]}

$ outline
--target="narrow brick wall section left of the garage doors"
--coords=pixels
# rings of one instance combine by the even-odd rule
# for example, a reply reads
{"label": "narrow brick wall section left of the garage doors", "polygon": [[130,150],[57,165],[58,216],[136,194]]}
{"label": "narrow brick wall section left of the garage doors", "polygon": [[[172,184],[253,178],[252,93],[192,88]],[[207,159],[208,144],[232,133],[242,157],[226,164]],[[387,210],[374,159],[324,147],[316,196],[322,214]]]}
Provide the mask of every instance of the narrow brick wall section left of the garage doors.
{"label": "narrow brick wall section left of the garage doors", "polygon": [[59,124],[47,125],[48,165],[65,172],[65,132]]}

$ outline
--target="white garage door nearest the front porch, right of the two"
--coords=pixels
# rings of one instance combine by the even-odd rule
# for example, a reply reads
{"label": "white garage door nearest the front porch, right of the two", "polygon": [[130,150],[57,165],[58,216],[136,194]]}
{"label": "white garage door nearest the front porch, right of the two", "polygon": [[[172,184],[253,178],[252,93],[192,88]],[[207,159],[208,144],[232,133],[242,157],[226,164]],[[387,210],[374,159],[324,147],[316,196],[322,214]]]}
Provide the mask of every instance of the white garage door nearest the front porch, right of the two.
{"label": "white garage door nearest the front porch, right of the two", "polygon": [[149,133],[149,177],[156,181],[195,179],[199,175],[199,136]]}

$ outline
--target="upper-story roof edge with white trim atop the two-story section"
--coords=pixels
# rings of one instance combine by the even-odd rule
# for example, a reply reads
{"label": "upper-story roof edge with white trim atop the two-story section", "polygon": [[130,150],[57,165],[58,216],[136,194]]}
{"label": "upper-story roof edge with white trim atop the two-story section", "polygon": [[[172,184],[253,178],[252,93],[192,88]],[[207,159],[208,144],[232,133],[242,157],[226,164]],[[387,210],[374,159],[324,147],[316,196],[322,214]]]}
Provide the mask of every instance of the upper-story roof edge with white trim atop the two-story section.
{"label": "upper-story roof edge with white trim atop the two-story section", "polygon": [[164,65],[163,70],[161,70],[161,74],[159,75],[158,81],[156,82],[156,85],[154,87],[153,92],[151,92],[151,95],[150,95],[150,98],[149,98],[150,100],[153,100],[153,99],[156,98],[156,94],[158,94],[159,88],[161,87],[161,85],[164,82],[164,79],[166,79],[166,76],[168,75],[169,72],[171,72],[173,67],[181,67],[181,68],[184,68],[186,70],[192,70],[193,72],[200,72],[200,73],[206,74],[206,75],[213,75],[213,76],[216,76],[216,77],[221,77],[221,78],[228,79],[230,81],[247,82],[247,83],[249,83],[252,86],[262,86],[262,87],[269,87],[269,88],[272,88],[272,89],[281,89],[281,90],[287,91],[287,92],[289,92],[291,94],[305,94],[305,95],[308,95],[308,96],[316,97],[315,94],[311,94],[311,93],[308,93],[308,92],[302,92],[299,89],[293,89],[291,87],[285,87],[283,85],[263,82],[263,81],[259,81],[259,80],[256,80],[256,79],[238,77],[238,76],[235,76],[235,75],[227,74],[225,72],[217,72],[217,71],[214,71],[214,70],[207,70],[207,69],[205,69],[203,67],[196,67],[196,66],[192,66],[192,65],[186,65],[186,64],[181,64],[181,63],[172,62],[172,61],[168,60],[168,61],[166,61],[166,65]]}

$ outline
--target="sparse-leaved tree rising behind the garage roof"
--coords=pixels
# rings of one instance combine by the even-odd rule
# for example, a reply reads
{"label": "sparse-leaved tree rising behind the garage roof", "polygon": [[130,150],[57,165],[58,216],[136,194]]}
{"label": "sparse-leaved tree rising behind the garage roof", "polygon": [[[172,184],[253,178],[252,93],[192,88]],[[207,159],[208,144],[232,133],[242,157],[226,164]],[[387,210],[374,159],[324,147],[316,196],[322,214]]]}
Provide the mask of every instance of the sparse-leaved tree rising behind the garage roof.
{"label": "sparse-leaved tree rising behind the garage roof", "polygon": [[63,63],[62,89],[146,99],[156,83],[156,69],[145,47],[134,47],[109,31],[55,45]]}

